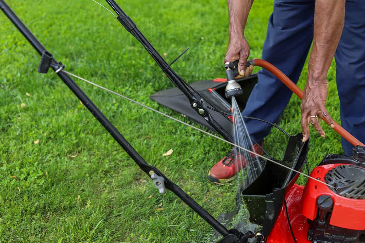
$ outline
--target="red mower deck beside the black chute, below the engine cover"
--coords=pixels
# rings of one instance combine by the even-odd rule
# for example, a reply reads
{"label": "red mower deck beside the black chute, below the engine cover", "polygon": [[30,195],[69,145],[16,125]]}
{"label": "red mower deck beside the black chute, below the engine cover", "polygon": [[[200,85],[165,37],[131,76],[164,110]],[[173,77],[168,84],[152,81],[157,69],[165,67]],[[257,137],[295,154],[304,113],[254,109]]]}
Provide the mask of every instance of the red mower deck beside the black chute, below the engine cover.
{"label": "red mower deck beside the black chute, below the engine cover", "polygon": [[[297,243],[311,243],[310,240],[307,240],[309,228],[307,218],[301,214],[303,190],[303,186],[294,184],[285,198],[287,200],[289,219]],[[284,203],[266,243],[294,243]]]}

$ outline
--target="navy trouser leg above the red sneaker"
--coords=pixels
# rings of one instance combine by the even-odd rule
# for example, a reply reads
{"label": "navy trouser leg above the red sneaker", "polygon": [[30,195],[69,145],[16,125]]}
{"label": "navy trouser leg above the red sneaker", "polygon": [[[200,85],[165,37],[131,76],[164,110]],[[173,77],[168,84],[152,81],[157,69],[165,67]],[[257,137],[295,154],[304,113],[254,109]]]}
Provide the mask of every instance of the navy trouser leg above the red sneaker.
{"label": "navy trouser leg above the red sneaker", "polygon": [[[262,58],[297,82],[313,39],[314,0],[275,1],[269,18]],[[253,6],[254,7],[254,6]],[[266,70],[258,73],[258,83],[242,115],[276,122],[292,95],[280,80]],[[271,126],[246,119],[247,130],[257,141],[270,133]],[[298,121],[299,122],[299,121]]]}

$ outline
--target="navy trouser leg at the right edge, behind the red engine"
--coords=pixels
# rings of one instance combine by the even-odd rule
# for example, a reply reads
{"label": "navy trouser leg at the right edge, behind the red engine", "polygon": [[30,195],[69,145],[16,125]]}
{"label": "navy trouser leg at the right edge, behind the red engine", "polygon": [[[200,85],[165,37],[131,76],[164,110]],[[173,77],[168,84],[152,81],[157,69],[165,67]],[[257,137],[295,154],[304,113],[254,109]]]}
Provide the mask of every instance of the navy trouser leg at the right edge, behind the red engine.
{"label": "navy trouser leg at the right edge, behind the red engine", "polygon": [[[365,143],[365,1],[348,1],[345,9],[345,25],[335,53],[341,126]],[[343,138],[342,147],[345,154],[351,154],[353,145]]]}

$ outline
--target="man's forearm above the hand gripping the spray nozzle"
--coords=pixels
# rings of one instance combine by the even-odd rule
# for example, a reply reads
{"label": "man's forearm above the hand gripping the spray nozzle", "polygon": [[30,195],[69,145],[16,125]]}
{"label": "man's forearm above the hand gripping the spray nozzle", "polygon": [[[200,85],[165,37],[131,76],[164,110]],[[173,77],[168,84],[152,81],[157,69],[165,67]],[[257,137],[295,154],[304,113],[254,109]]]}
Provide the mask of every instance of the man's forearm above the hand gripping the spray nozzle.
{"label": "man's forearm above the hand gripping the spray nozzle", "polygon": [[253,0],[227,0],[229,14],[229,36],[241,36],[245,32],[247,17]]}

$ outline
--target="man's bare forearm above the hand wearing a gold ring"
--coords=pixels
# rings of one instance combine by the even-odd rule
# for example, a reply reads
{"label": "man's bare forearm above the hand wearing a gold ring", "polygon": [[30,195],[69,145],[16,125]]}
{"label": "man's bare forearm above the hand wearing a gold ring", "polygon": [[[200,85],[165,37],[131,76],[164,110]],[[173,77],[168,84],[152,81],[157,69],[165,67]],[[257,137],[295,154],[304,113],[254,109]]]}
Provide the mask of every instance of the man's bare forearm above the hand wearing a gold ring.
{"label": "man's bare forearm above the hand wearing a gold ring", "polygon": [[325,81],[341,38],[345,0],[316,0],[314,40],[309,59],[308,82]]}

